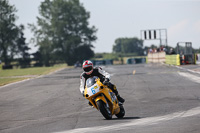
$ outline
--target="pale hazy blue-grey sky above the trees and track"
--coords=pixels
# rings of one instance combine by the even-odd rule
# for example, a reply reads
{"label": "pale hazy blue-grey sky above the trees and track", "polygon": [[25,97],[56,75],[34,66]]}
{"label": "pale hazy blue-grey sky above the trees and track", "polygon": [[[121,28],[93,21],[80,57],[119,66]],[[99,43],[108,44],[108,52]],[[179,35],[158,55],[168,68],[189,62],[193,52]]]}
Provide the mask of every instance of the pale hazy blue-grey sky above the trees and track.
{"label": "pale hazy blue-grey sky above the trees and track", "polygon": [[[19,17],[16,24],[25,25],[27,43],[33,37],[27,24],[37,24],[38,8],[44,0],[9,0],[15,5]],[[95,26],[97,40],[94,51],[112,52],[117,38],[141,38],[142,30],[166,29],[167,45],[175,47],[178,42],[192,42],[200,48],[200,0],[80,0],[90,12],[89,25]],[[143,34],[142,34],[143,35]],[[165,37],[164,33],[162,33]],[[159,40],[144,40],[144,46]],[[31,53],[37,51],[29,45]]]}

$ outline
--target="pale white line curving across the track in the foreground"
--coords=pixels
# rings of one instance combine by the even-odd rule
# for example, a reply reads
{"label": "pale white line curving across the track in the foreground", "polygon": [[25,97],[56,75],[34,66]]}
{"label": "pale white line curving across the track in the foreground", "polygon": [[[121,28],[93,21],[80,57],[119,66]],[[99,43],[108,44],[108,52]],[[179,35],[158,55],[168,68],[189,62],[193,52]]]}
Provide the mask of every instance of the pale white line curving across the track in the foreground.
{"label": "pale white line curving across the track in the foreground", "polygon": [[119,123],[119,124],[114,124],[110,126],[96,126],[96,127],[88,127],[88,128],[77,128],[73,130],[68,130],[68,131],[62,131],[62,132],[55,132],[55,133],[88,133],[88,132],[109,132],[109,131],[116,131],[120,130],[122,131],[123,129],[129,129],[128,127],[132,126],[144,126],[144,125],[153,125],[153,124],[158,124],[160,122],[165,122],[169,120],[173,120],[175,118],[185,118],[185,117],[191,117],[191,116],[196,116],[200,114],[200,107],[193,108],[188,111],[184,112],[176,112],[164,116],[157,116],[157,117],[149,117],[149,118],[143,118],[143,119],[138,119],[138,120],[131,120],[128,121],[127,123]]}

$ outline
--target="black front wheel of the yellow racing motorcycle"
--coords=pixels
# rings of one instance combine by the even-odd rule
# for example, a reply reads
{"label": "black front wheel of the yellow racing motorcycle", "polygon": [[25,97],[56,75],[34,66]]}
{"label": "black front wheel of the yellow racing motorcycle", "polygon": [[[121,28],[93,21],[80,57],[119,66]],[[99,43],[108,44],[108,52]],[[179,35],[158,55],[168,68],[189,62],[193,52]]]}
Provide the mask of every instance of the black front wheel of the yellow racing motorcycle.
{"label": "black front wheel of the yellow racing motorcycle", "polygon": [[97,101],[98,108],[101,112],[101,114],[107,119],[112,119],[112,114],[110,111],[110,108],[104,103],[102,100]]}

